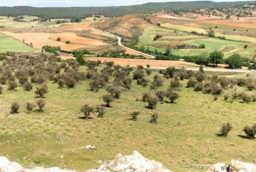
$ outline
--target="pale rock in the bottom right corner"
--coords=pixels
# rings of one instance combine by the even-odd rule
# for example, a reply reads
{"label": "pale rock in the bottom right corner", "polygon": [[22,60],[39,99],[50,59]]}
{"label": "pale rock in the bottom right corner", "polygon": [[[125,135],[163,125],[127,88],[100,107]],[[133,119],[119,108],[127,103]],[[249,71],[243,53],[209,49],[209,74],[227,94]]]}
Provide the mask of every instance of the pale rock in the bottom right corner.
{"label": "pale rock in the bottom right corner", "polygon": [[256,165],[237,160],[232,160],[229,165],[215,164],[207,172],[256,172]]}

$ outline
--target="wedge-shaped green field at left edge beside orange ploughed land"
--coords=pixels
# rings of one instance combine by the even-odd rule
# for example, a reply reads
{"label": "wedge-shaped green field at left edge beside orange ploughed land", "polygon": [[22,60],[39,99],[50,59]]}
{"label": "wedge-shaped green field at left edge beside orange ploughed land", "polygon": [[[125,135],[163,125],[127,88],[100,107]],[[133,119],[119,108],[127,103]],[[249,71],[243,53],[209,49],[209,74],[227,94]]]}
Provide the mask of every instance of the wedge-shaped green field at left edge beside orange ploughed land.
{"label": "wedge-shaped green field at left edge beside orange ploughed land", "polygon": [[31,46],[16,40],[13,37],[0,34],[0,53],[5,53],[7,51],[36,52],[38,50],[33,49]]}

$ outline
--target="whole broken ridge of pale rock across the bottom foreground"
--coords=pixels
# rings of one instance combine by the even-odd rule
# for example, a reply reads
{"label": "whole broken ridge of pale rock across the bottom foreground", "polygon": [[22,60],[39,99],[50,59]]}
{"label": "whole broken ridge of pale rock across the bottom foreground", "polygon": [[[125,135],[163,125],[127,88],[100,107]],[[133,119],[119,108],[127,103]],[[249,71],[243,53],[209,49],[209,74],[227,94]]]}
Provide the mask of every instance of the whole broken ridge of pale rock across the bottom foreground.
{"label": "whole broken ridge of pale rock across the bottom foreground", "polygon": [[[76,172],[62,170],[58,167],[36,167],[27,169],[17,162],[10,162],[5,157],[0,157],[0,172]],[[137,151],[129,156],[117,154],[115,160],[103,163],[99,168],[85,172],[172,172],[163,167],[160,162],[150,161]],[[232,160],[229,165],[218,163],[213,165],[207,172],[256,172],[256,165]]]}

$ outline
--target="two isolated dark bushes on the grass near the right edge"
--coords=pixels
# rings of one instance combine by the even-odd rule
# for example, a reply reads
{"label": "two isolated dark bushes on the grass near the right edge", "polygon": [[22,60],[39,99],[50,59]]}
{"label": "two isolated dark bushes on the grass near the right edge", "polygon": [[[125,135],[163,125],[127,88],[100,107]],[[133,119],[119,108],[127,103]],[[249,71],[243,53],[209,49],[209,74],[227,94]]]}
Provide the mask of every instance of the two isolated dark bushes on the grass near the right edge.
{"label": "two isolated dark bushes on the grass near the right edge", "polygon": [[[217,136],[227,137],[229,132],[231,132],[232,128],[233,128],[233,126],[231,123],[222,124],[222,126],[220,128],[220,132],[217,133]],[[255,139],[256,124],[254,124],[253,126],[244,127],[243,132],[246,134],[246,138]]]}

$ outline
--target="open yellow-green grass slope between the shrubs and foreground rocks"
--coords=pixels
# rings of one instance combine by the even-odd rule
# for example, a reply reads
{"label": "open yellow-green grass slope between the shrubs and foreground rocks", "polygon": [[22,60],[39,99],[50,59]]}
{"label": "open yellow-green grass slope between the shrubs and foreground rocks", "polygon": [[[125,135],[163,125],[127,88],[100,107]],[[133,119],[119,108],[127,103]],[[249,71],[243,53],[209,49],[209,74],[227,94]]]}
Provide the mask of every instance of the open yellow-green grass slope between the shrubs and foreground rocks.
{"label": "open yellow-green grass slope between the shrubs and foreground rocks", "polygon": [[[84,68],[81,70],[84,71]],[[150,76],[152,80],[152,76]],[[156,110],[146,109],[146,103],[136,101],[143,92],[152,92],[132,83],[130,91],[124,91],[120,100],[107,108],[104,118],[79,119],[85,103],[91,106],[103,104],[106,92],[90,92],[88,81],[75,89],[58,89],[49,82],[45,95],[44,113],[27,113],[25,103],[35,101],[33,91],[7,91],[0,95],[0,156],[7,156],[26,167],[41,166],[83,171],[96,168],[98,160],[114,159],[117,153],[130,154],[140,151],[146,158],[163,162],[173,171],[205,171],[191,164],[215,164],[240,159],[255,163],[255,141],[240,138],[244,126],[255,121],[255,103],[226,103],[223,98],[213,101],[212,95],[184,88],[174,104],[158,104]],[[165,80],[167,89],[169,81]],[[10,114],[10,104],[20,103],[20,113]],[[138,121],[130,121],[129,114],[140,111]],[[160,115],[157,125],[149,123],[153,112]],[[227,138],[215,133],[222,123],[229,121],[234,129]],[[79,150],[92,144],[96,150]],[[246,147],[246,148],[245,148]]]}

